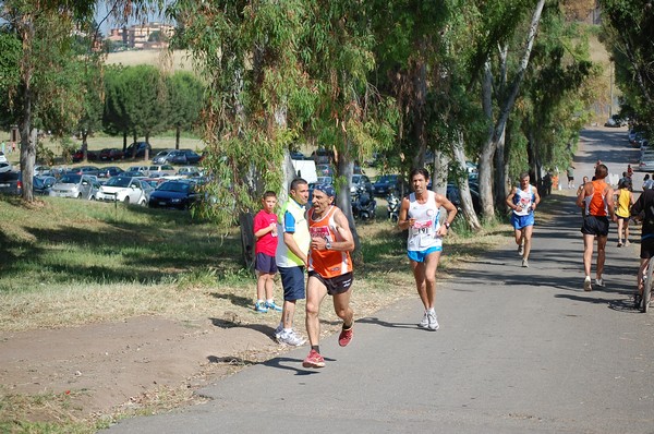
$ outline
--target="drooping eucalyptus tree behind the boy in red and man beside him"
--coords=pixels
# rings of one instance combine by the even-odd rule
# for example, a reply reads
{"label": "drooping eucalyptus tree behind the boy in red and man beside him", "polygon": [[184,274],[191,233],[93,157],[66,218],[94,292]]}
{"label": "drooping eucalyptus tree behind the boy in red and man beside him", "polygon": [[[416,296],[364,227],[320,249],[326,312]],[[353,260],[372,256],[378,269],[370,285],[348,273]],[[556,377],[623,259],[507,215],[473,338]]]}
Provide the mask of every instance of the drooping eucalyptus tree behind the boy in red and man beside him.
{"label": "drooping eucalyptus tree behind the boy in red and man beside him", "polygon": [[305,2],[179,0],[168,14],[184,29],[172,44],[189,47],[206,83],[203,165],[211,200],[199,212],[229,227],[264,189],[283,190],[284,154],[313,114],[302,61],[311,55],[301,41],[311,31]]}

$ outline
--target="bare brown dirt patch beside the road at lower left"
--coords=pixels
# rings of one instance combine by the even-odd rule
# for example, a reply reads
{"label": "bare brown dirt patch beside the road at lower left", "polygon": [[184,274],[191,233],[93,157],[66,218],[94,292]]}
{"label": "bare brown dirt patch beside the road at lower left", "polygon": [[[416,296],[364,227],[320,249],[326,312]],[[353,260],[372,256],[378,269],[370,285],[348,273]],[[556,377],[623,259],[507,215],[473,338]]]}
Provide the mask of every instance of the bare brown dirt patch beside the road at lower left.
{"label": "bare brown dirt patch beside the road at lower left", "polygon": [[262,325],[160,317],[0,333],[0,384],[8,394],[69,395],[74,413],[87,418],[270,357],[283,349],[271,334]]}

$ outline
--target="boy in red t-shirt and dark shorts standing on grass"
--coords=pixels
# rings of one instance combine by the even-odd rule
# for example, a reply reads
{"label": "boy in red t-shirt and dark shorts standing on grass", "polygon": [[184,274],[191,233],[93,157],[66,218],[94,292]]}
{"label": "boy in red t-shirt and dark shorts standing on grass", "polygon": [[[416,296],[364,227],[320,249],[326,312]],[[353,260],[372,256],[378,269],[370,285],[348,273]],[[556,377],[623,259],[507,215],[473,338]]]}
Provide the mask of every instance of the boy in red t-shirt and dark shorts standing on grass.
{"label": "boy in red t-shirt and dark shorts standing on grass", "polygon": [[275,254],[277,253],[277,215],[275,214],[277,194],[267,191],[264,193],[262,204],[263,209],[254,216],[254,238],[256,239],[254,246],[256,254],[256,303],[254,310],[263,313],[268,312],[269,309],[281,311],[281,308],[275,304],[272,298],[274,279],[277,274],[277,264],[275,263]]}

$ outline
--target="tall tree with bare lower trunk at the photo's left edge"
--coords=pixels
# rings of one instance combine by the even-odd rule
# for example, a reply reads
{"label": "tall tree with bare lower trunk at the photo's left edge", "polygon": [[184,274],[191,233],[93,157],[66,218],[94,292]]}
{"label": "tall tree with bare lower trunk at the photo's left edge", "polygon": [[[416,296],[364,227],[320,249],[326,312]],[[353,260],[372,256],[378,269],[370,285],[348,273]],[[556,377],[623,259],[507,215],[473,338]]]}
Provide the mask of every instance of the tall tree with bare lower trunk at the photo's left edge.
{"label": "tall tree with bare lower trunk at the photo's left edge", "polygon": [[[138,12],[147,1],[116,0],[117,13]],[[154,2],[153,2],[154,3]],[[36,159],[35,120],[70,125],[82,112],[78,87],[69,86],[66,68],[77,61],[71,49],[75,31],[87,29],[96,1],[89,0],[5,0],[2,21],[21,44],[17,83],[9,88],[9,107],[21,138],[23,198],[33,201],[32,177]],[[75,53],[76,55],[76,53]],[[77,83],[78,84],[78,83]],[[59,122],[61,119],[68,121]],[[57,131],[57,129],[55,130]]]}

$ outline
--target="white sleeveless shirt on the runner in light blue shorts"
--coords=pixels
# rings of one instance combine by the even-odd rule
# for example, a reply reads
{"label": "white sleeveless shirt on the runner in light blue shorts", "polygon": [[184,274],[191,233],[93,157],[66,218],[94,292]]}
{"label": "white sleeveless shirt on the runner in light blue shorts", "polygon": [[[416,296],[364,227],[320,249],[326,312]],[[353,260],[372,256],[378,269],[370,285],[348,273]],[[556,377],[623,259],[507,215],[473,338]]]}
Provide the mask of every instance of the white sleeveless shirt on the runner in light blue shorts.
{"label": "white sleeveless shirt on the runner in light blue shorts", "polygon": [[439,221],[440,209],[436,207],[436,193],[427,191],[427,201],[424,204],[417,203],[415,193],[409,195],[409,218],[414,218],[415,224],[409,228],[409,240],[407,250],[410,252],[422,252],[429,248],[443,245],[443,239],[436,236]]}

